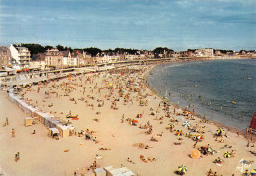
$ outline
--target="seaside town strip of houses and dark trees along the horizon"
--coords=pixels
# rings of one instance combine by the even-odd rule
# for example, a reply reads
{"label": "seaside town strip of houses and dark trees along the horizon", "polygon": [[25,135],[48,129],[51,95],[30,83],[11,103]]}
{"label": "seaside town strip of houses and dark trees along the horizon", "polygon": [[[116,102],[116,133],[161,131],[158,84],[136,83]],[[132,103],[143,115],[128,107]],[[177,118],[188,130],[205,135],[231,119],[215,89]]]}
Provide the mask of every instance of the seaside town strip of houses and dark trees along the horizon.
{"label": "seaside town strip of houses and dark trees along the horizon", "polygon": [[72,49],[61,45],[53,47],[40,44],[11,44],[11,46],[0,47],[0,70],[1,72],[23,71],[23,69],[54,70],[166,58],[173,60],[256,58],[256,50],[203,48],[177,52],[166,47],[157,47],[154,50],[124,48],[101,50],[98,48]]}

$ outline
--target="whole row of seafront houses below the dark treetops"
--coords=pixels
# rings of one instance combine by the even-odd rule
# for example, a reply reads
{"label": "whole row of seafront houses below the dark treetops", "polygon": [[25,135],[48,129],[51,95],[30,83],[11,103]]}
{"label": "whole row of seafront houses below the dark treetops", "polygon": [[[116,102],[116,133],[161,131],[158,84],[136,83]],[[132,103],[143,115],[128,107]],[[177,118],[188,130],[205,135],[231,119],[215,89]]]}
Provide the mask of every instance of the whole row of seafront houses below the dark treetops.
{"label": "whole row of seafront houses below the dark treetops", "polygon": [[72,51],[59,51],[56,48],[48,49],[44,53],[34,54],[31,59],[31,53],[28,48],[21,45],[10,47],[0,47],[0,70],[6,68],[68,68],[81,67],[92,64],[114,63],[119,61],[134,61],[151,58],[170,58],[170,57],[215,57],[215,56],[242,56],[256,57],[256,51],[235,52],[231,50],[216,50],[212,48],[188,49],[187,51],[175,52],[173,50],[160,48],[157,52],[147,50],[137,50],[133,54],[122,51],[103,51],[92,57],[82,49]]}

